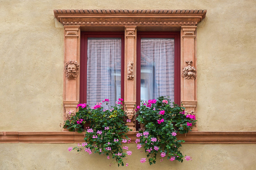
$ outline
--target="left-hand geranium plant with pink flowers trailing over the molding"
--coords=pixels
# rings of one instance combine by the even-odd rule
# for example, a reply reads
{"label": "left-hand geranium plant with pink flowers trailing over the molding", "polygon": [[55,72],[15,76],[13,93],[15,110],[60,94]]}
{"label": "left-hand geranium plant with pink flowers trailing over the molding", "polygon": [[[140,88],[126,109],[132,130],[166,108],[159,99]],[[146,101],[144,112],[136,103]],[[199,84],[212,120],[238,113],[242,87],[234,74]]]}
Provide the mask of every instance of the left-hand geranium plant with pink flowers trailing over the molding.
{"label": "left-hand geranium plant with pink flowers trailing over the molding", "polygon": [[[85,151],[91,154],[105,154],[107,158],[116,160],[118,166],[124,166],[124,157],[131,155],[132,151],[128,147],[121,147],[121,143],[129,143],[130,139],[126,136],[126,132],[130,129],[125,125],[122,109],[123,99],[119,99],[115,106],[104,109],[101,105],[105,103],[108,106],[109,100],[105,99],[102,103],[88,108],[87,104],[78,104],[79,111],[67,120],[64,128],[69,131],[84,131],[84,124],[90,122],[89,127],[85,127],[84,143],[78,144],[76,147],[69,147],[68,150],[77,150],[77,152]],[[128,164],[126,164],[128,166]]]}

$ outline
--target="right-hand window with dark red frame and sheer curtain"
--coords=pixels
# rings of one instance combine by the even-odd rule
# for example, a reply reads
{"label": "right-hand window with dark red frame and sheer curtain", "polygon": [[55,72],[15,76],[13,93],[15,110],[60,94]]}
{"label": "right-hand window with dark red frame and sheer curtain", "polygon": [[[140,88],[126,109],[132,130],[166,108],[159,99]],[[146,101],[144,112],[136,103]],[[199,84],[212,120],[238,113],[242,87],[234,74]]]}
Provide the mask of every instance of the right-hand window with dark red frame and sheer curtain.
{"label": "right-hand window with dark red frame and sheer curtain", "polygon": [[137,105],[159,96],[180,104],[180,32],[137,32]]}

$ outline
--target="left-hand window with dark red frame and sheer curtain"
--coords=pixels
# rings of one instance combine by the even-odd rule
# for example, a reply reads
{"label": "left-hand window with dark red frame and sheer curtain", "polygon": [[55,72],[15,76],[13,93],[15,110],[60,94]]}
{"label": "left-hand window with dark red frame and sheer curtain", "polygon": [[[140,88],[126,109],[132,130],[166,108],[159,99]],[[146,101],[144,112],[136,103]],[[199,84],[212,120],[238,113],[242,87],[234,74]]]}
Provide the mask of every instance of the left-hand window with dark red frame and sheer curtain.
{"label": "left-hand window with dark red frame and sheer curtain", "polygon": [[[80,103],[124,97],[124,33],[81,33]],[[104,106],[104,105],[103,105]],[[106,108],[107,109],[107,108]]]}

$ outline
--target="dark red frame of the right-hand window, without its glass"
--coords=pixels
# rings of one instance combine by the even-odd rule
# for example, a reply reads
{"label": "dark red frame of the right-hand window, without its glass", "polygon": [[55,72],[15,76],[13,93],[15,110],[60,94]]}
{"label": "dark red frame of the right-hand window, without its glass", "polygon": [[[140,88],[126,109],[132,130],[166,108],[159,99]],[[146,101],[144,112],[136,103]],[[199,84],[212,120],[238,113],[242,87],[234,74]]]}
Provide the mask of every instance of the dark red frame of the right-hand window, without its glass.
{"label": "dark red frame of the right-hand window, without its glass", "polygon": [[[141,38],[174,38],[174,102],[180,105],[180,32],[137,32],[136,105],[140,105]],[[136,127],[140,127],[138,121]]]}

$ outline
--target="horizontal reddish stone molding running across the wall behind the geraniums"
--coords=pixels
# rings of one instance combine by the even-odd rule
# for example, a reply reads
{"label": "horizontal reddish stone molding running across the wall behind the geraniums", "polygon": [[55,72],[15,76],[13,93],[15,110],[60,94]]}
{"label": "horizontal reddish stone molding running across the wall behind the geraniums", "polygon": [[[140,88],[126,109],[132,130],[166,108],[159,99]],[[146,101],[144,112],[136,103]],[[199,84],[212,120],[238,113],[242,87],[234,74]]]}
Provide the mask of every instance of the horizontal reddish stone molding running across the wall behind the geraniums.
{"label": "horizontal reddish stone molding running across the wall behind the geraniums", "polygon": [[[0,143],[82,143],[84,132],[42,131],[42,132],[0,132]],[[127,133],[134,143],[137,131]],[[256,143],[256,131],[191,131],[178,134],[179,140],[187,144],[242,144]]]}

